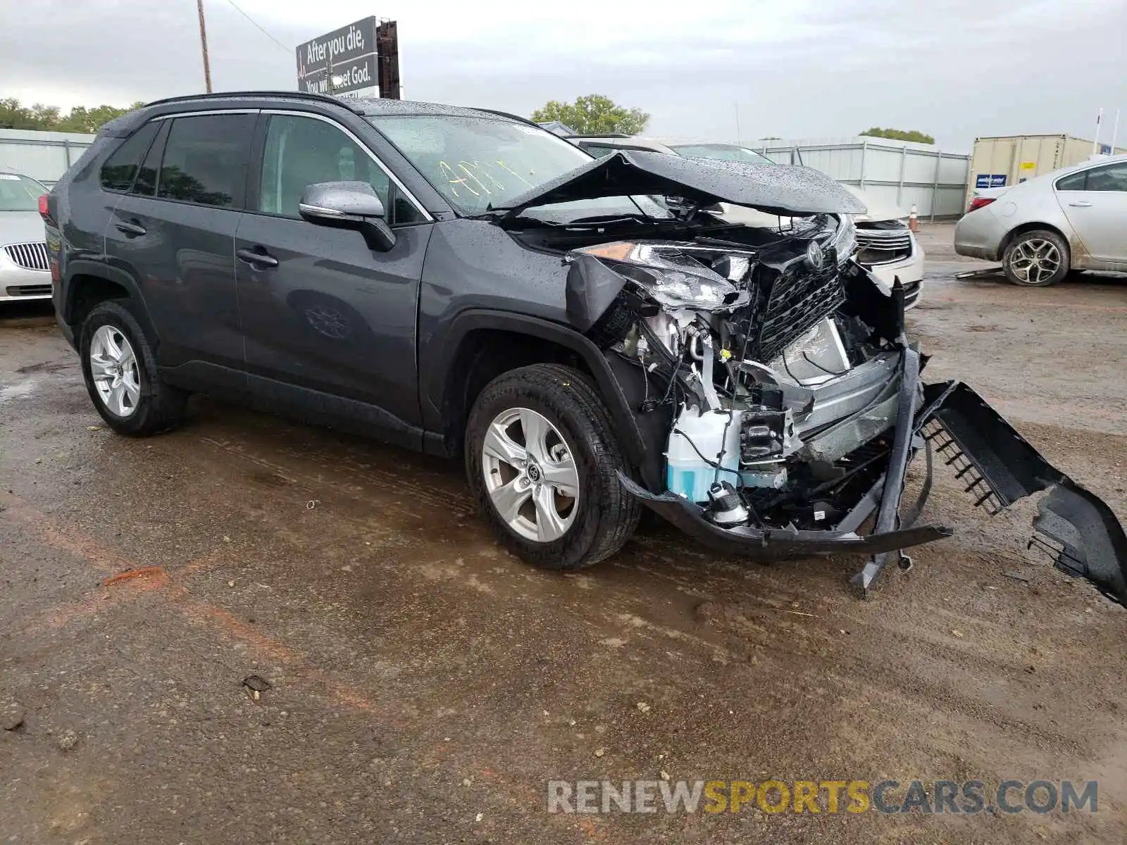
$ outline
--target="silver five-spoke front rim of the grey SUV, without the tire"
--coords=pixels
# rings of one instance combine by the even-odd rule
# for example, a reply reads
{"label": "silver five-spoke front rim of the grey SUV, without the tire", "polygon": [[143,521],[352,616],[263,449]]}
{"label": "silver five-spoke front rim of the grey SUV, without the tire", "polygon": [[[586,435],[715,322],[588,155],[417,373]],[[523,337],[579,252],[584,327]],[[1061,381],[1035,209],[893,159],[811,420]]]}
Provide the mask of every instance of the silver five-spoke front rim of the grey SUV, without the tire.
{"label": "silver five-spoke front rim of the grey SUV, without the tire", "polygon": [[500,518],[521,536],[559,540],[575,522],[579,470],[567,441],[529,408],[498,413],[481,448],[486,491]]}

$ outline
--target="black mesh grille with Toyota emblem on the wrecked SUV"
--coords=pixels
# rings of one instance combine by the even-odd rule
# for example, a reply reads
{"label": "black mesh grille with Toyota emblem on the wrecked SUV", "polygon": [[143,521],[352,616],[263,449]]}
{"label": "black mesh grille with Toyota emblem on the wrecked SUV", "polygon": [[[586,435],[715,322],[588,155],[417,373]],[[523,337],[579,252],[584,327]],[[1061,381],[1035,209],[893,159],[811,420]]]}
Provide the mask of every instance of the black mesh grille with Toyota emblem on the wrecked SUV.
{"label": "black mesh grille with Toyota emblem on the wrecked SUV", "polygon": [[844,302],[845,286],[833,249],[825,251],[819,270],[810,269],[804,259],[792,261],[771,285],[760,324],[758,361],[774,361],[795,338]]}

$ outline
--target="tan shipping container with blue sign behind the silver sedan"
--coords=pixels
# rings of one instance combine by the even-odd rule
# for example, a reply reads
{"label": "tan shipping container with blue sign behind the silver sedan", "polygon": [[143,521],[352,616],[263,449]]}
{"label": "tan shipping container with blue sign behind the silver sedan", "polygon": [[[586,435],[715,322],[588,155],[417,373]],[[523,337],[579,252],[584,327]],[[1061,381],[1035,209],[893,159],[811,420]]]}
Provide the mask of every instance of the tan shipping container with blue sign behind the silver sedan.
{"label": "tan shipping container with blue sign behind the silver sedan", "polygon": [[[1109,144],[1097,152],[1111,153]],[[1116,153],[1127,152],[1117,148]],[[970,155],[967,204],[976,188],[1006,188],[1063,167],[1080,164],[1092,155],[1092,142],[1071,135],[1009,135],[976,137]]]}

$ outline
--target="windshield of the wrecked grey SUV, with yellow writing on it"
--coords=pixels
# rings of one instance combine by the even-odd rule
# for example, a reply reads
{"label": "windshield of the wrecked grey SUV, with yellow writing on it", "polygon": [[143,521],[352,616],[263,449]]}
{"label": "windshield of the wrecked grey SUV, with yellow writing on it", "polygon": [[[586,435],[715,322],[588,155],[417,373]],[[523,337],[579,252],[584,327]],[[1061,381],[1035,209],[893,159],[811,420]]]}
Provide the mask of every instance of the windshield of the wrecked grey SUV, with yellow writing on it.
{"label": "windshield of the wrecked grey SUV, with yellow writing on it", "polygon": [[[514,121],[453,115],[384,115],[369,121],[465,215],[507,208],[515,197],[591,161],[591,155],[552,133]],[[622,196],[525,212],[560,223],[625,214],[669,216],[655,203]]]}

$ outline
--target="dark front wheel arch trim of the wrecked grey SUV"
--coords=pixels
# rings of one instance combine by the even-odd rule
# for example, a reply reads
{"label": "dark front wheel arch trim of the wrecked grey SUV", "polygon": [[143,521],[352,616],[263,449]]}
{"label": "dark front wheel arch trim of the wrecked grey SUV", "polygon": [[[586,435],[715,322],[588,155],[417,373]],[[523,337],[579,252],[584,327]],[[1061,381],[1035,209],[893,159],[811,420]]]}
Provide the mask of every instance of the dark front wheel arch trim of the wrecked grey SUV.
{"label": "dark front wheel arch trim of the wrecked grey SUV", "polygon": [[614,422],[623,453],[644,472],[649,450],[638,420],[606,356],[574,329],[525,314],[474,309],[463,311],[445,330],[441,347],[423,372],[423,421],[437,433],[446,454],[458,454],[470,408],[481,389],[509,370],[534,363],[569,364],[595,382]]}

